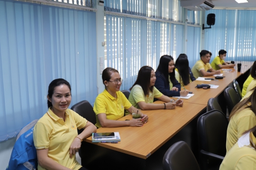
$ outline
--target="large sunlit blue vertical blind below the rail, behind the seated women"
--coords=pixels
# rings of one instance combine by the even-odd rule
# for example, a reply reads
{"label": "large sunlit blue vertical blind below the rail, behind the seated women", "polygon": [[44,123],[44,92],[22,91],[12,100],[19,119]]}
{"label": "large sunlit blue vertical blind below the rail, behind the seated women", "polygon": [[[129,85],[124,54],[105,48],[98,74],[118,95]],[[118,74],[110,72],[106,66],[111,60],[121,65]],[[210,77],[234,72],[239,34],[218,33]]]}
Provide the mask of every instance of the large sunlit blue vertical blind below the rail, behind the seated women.
{"label": "large sunlit blue vertical blind below the rail, behind the seated women", "polygon": [[183,53],[182,24],[107,14],[105,25],[105,67],[119,71],[121,90],[132,87],[141,66],[156,70],[162,55],[176,58]]}

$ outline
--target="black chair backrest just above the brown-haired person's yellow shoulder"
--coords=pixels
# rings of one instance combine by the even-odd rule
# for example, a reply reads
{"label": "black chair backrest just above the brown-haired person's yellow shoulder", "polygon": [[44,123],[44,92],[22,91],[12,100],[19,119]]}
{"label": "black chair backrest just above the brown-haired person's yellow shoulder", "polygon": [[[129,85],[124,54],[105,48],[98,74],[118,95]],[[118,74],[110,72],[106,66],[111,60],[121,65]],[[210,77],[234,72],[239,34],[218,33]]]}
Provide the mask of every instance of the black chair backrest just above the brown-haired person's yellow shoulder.
{"label": "black chair backrest just above the brown-haired person's yellow shoulder", "polygon": [[234,106],[238,104],[241,99],[239,99],[239,97],[236,94],[236,91],[231,87],[228,87],[224,90],[224,97],[227,102],[228,113],[230,114]]}

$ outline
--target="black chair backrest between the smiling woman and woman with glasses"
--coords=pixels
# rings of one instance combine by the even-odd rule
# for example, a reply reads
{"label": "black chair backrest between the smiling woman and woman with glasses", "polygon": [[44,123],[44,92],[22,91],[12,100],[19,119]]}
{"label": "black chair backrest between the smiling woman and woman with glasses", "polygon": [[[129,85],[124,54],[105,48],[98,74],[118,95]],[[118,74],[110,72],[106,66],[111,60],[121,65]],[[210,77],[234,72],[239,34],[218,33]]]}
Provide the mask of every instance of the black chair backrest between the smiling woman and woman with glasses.
{"label": "black chair backrest between the smiling woman and woman with glasses", "polygon": [[86,118],[87,121],[90,121],[92,124],[96,124],[96,115],[89,101],[80,101],[77,104],[73,105],[71,109],[82,117]]}

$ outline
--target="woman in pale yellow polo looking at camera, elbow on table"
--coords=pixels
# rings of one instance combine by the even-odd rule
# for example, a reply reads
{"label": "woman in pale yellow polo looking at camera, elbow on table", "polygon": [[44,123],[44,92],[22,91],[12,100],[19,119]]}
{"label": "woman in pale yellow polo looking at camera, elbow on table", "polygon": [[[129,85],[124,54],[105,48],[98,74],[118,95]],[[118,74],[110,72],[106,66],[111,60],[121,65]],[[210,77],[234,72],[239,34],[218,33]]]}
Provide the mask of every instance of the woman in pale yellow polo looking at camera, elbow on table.
{"label": "woman in pale yellow polo looking at camera, elbow on table", "polygon": [[[76,152],[83,139],[96,131],[96,127],[76,112],[68,109],[71,87],[64,79],[53,80],[47,95],[48,111],[34,128],[38,170],[84,170],[76,160]],[[77,129],[84,129],[77,134]]]}

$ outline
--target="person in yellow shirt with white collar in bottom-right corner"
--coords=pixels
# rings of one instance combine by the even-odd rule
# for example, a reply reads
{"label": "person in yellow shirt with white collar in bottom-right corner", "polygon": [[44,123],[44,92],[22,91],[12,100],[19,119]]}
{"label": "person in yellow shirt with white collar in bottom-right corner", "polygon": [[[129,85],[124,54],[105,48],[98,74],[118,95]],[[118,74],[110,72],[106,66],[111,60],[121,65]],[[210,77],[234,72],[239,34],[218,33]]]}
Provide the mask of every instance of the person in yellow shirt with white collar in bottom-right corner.
{"label": "person in yellow shirt with white collar in bottom-right corner", "polygon": [[220,170],[255,169],[256,126],[243,133],[237,143],[227,152]]}

